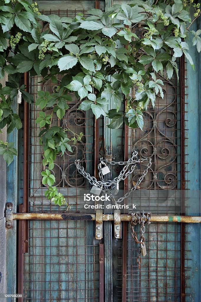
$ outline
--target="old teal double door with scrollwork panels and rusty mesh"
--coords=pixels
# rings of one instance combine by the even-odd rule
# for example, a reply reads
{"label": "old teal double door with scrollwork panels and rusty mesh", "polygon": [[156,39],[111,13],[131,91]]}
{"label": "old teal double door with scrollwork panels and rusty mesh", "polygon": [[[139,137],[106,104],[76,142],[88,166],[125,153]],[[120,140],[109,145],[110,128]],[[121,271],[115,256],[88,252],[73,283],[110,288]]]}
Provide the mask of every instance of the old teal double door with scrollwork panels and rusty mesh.
{"label": "old teal double door with scrollwork panels and rusty mesh", "polygon": [[[68,1],[66,6],[66,2],[62,1],[39,2],[44,14],[68,17],[78,12],[86,16],[87,10],[95,5],[104,10],[110,3]],[[142,34],[141,29],[132,30]],[[181,79],[184,79],[184,64],[181,63]],[[187,286],[187,280],[184,268],[190,256],[183,240],[184,223],[176,223],[176,218],[173,218],[173,215],[178,215],[179,222],[180,215],[184,214],[183,193],[178,191],[185,188],[185,171],[182,168],[184,82],[178,84],[174,78],[167,81],[165,75],[160,77],[164,77],[164,99],[158,97],[155,108],[148,108],[144,114],[145,126],[142,132],[128,127],[111,131],[107,128],[107,117],[95,121],[91,113],[78,109],[79,101],[72,95],[73,102],[62,120],[62,126],[72,127],[76,133],[83,132],[84,137],[73,146],[72,154],[65,153],[63,157],[57,157],[53,170],[56,186],[72,204],[68,218],[65,216],[65,207],[50,204],[44,197],[45,187],[41,185],[40,176],[42,153],[39,129],[34,123],[37,107],[32,105],[29,108],[25,104],[24,184],[19,182],[20,188],[23,187],[23,195],[19,190],[23,205],[19,211],[31,213],[32,218],[29,221],[19,220],[18,225],[18,293],[24,293],[21,301],[176,302],[181,297],[185,301],[184,285]],[[57,79],[57,83],[48,80],[41,84],[40,77],[29,78],[27,75],[25,81],[36,99],[38,89],[54,92],[62,81],[59,75]],[[112,108],[112,104],[110,106]],[[58,124],[56,116],[53,123]],[[142,259],[140,269],[136,261],[137,245],[132,239],[128,219],[121,222],[120,239],[114,238],[111,221],[104,221],[103,238],[95,238],[95,216],[90,221],[84,212],[83,201],[78,199],[80,189],[88,188],[89,184],[78,174],[74,165],[75,159],[81,159],[87,172],[96,175],[100,154],[108,160],[119,162],[127,160],[133,150],[138,151],[141,158],[151,157],[152,166],[140,188],[123,204],[128,204],[131,209],[132,204],[136,205],[132,211],[145,210],[152,212],[155,217],[168,215],[169,219],[169,222],[160,223],[155,218],[146,226],[147,255]],[[114,165],[110,176],[114,178],[120,169],[120,165]],[[131,189],[144,170],[144,164],[139,164],[131,178],[120,184],[121,189]],[[123,212],[128,214],[129,211],[125,209]],[[35,214],[41,213],[44,219],[38,216],[34,218]],[[48,219],[49,214],[57,213],[60,215],[58,220]],[[18,218],[16,216],[15,219]],[[135,230],[139,235],[139,225],[136,225]]]}

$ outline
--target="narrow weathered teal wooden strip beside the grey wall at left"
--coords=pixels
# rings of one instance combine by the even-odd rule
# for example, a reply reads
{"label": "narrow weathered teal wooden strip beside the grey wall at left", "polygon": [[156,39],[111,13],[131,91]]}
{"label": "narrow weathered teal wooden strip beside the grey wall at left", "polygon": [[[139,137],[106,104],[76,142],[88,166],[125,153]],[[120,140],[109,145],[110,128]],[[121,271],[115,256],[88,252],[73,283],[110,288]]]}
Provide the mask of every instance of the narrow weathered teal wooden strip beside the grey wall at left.
{"label": "narrow weathered teal wooden strip beside the grey wall at left", "polygon": [[[17,101],[14,101],[14,112],[18,113]],[[14,129],[7,135],[8,142],[14,142],[14,147],[18,150],[18,130]],[[7,201],[12,202],[13,210],[17,210],[18,204],[18,157],[14,156],[13,162],[7,167]],[[13,223],[13,228],[7,230],[7,294],[16,293],[16,221]],[[15,302],[15,298],[7,298],[8,302]]]}

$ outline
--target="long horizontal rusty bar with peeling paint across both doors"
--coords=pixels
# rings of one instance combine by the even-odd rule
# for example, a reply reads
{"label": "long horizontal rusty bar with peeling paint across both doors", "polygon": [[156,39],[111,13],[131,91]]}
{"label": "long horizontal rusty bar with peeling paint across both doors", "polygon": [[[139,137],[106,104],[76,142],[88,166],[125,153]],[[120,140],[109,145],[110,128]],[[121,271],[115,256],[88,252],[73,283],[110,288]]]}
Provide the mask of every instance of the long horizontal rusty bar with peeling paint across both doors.
{"label": "long horizontal rusty bar with peeling paint across both doors", "polygon": [[[10,217],[9,217],[10,219]],[[96,220],[96,214],[50,214],[50,213],[12,213],[12,220]],[[113,221],[114,214],[103,214],[104,221]],[[130,221],[131,215],[121,214],[121,221]],[[7,221],[7,220],[6,220]],[[10,221],[10,220],[9,220]],[[146,219],[147,221],[147,219]],[[151,222],[200,223],[201,216],[153,215]]]}

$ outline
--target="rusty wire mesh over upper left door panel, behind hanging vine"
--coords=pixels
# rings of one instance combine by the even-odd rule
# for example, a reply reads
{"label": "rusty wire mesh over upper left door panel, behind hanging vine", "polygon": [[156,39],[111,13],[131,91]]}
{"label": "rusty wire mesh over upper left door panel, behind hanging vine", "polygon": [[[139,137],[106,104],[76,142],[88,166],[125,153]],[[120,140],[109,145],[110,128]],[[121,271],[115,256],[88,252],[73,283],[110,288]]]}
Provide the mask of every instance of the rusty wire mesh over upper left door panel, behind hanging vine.
{"label": "rusty wire mesh over upper left door panel, behind hanging vine", "polygon": [[[69,11],[43,11],[44,14],[56,13],[60,16],[75,17],[77,13],[81,13],[84,16],[87,16],[85,10],[73,10]],[[43,22],[43,30],[47,29],[47,24]],[[49,92],[53,94],[58,91],[59,85],[65,83],[66,76],[58,74],[56,77],[50,78],[46,77],[46,80],[41,76],[34,76],[30,78],[30,92],[34,96],[34,104],[32,104],[30,117],[31,117],[31,148],[30,148],[30,197],[31,205],[37,204],[37,200],[40,200],[40,204],[49,204],[44,198],[44,192],[46,191],[46,186],[42,185],[41,171],[43,170],[42,160],[43,160],[43,151],[40,144],[39,133],[40,127],[39,124],[36,124],[36,119],[40,112],[39,108],[35,105],[37,100],[38,90],[43,90],[44,92]],[[73,203],[77,204],[76,196],[78,195],[78,188],[85,188],[86,183],[83,176],[81,176],[75,167],[75,159],[80,159],[81,164],[87,169],[88,172],[92,173],[92,167],[94,162],[94,117],[91,112],[84,112],[79,109],[81,101],[76,98],[75,93],[68,93],[69,97],[72,98],[72,101],[67,101],[69,109],[66,111],[64,117],[59,120],[56,113],[53,112],[52,107],[46,107],[43,110],[47,115],[53,114],[51,119],[51,127],[60,126],[66,130],[68,137],[71,139],[74,136],[73,133],[80,134],[83,133],[83,137],[77,143],[73,141],[70,142],[70,145],[73,149],[73,152],[66,151],[64,156],[60,154],[56,156],[55,166],[52,169],[51,173],[56,178],[55,186],[59,188],[59,191],[66,197],[66,200],[69,201],[74,197]],[[46,168],[46,167],[45,167]],[[44,169],[45,169],[44,168]],[[40,198],[38,198],[40,196]],[[38,199],[37,199],[38,198]],[[55,208],[56,210],[56,208]]]}

